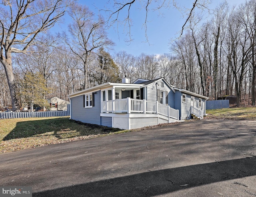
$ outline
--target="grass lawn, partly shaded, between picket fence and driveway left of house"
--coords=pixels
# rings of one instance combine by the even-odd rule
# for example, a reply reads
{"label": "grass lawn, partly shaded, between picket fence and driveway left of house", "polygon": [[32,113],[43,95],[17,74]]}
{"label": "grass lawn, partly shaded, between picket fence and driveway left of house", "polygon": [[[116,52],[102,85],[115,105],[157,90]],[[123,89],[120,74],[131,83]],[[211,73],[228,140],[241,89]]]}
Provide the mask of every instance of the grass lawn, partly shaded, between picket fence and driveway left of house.
{"label": "grass lawn, partly shaded, between picket fence and driveway left of house", "polygon": [[69,117],[0,119],[0,153],[89,139],[120,129],[80,124]]}

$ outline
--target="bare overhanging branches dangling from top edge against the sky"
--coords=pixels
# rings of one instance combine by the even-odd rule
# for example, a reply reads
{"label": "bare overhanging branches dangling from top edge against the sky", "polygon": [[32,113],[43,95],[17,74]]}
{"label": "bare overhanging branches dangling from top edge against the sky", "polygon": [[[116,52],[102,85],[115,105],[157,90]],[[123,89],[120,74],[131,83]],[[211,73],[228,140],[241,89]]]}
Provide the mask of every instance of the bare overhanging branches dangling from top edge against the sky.
{"label": "bare overhanging branches dangling from top edge against the sky", "polygon": [[[126,41],[131,42],[131,26],[133,17],[131,16],[130,12],[132,10],[140,10],[140,12],[144,14],[144,23],[142,24],[142,26],[145,30],[146,42],[148,42],[147,24],[149,22],[148,15],[150,12],[154,12],[157,10],[159,15],[162,15],[162,9],[164,8],[169,9],[171,7],[174,7],[178,9],[181,12],[182,16],[186,19],[184,25],[182,26],[182,30],[180,31],[180,35],[182,35],[185,26],[190,17],[192,17],[193,13],[197,9],[207,9],[209,3],[210,0],[191,0],[191,6],[189,8],[185,8],[184,5],[178,2],[178,0],[114,0],[112,2],[113,8],[106,8],[104,11],[109,14],[107,21],[108,24],[116,24],[117,27],[119,25],[124,26],[124,30],[127,30],[129,37]],[[123,12],[124,15],[122,15],[121,12]]]}

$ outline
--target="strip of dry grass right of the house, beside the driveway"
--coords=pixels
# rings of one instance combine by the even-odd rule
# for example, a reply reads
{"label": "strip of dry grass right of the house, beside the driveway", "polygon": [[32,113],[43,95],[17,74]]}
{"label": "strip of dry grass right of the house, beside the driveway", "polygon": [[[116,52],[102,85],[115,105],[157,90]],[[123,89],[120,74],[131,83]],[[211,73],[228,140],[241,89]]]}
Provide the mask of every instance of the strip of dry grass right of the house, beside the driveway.
{"label": "strip of dry grass right of the house, beside the driveway", "polygon": [[234,107],[206,110],[207,119],[256,120],[256,107]]}

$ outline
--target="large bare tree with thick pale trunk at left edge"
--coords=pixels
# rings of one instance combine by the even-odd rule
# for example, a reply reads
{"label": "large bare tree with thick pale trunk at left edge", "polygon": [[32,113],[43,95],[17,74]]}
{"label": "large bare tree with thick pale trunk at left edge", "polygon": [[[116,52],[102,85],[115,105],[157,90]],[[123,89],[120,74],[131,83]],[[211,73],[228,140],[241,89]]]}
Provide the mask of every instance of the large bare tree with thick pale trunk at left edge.
{"label": "large bare tree with thick pale trunk at left edge", "polygon": [[12,53],[25,53],[41,32],[60,21],[70,0],[4,0],[0,10],[0,62],[3,64],[12,110],[20,109],[12,68]]}

